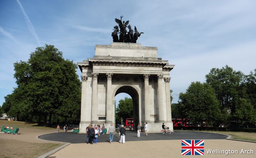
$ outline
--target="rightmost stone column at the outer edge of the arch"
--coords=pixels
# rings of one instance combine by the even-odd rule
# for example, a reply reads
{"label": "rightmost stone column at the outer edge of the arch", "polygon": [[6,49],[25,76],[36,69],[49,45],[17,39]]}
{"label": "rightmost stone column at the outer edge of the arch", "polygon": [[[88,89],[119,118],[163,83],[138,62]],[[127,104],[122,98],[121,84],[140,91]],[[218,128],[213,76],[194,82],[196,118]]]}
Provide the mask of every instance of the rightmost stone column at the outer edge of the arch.
{"label": "rightmost stone column at the outer edge of the arch", "polygon": [[166,92],[166,110],[167,110],[167,122],[172,122],[171,120],[171,94],[170,94],[170,77],[165,77],[165,92]]}

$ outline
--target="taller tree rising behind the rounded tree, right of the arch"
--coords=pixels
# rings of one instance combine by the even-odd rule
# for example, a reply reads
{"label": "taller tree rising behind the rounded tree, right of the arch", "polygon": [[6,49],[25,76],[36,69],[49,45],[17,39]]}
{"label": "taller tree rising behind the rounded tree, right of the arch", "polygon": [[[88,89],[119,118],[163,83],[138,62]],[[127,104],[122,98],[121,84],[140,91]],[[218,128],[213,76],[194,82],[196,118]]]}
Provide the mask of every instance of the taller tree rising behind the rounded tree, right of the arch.
{"label": "taller tree rising behind the rounded tree, right of the arch", "polygon": [[246,98],[245,88],[241,86],[244,74],[234,71],[231,67],[225,66],[222,69],[213,68],[206,75],[206,82],[212,86],[220,108],[229,118],[235,113],[239,98]]}

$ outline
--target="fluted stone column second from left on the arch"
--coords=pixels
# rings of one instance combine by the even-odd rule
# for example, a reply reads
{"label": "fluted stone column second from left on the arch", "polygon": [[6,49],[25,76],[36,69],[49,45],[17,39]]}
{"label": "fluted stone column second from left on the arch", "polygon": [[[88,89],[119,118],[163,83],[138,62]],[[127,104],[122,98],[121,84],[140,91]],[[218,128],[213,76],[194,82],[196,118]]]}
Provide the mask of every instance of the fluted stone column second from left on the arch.
{"label": "fluted stone column second from left on the arch", "polygon": [[96,123],[98,121],[98,73],[92,72],[92,113],[91,120],[92,123]]}

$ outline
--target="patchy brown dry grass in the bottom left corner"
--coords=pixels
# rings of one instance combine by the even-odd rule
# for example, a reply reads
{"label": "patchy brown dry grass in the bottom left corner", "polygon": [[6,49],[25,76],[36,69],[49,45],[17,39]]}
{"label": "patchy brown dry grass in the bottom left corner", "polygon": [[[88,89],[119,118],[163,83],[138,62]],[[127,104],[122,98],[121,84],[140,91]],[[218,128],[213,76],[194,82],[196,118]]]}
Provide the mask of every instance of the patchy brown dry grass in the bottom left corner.
{"label": "patchy brown dry grass in the bottom left corner", "polygon": [[30,143],[4,139],[0,139],[0,141],[1,158],[35,158],[62,145],[56,143]]}

